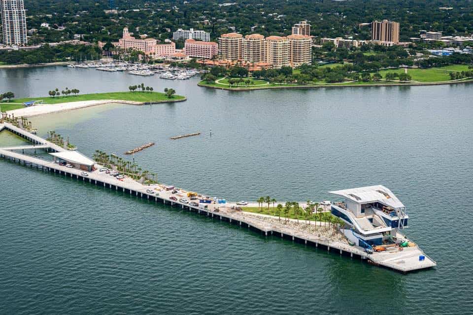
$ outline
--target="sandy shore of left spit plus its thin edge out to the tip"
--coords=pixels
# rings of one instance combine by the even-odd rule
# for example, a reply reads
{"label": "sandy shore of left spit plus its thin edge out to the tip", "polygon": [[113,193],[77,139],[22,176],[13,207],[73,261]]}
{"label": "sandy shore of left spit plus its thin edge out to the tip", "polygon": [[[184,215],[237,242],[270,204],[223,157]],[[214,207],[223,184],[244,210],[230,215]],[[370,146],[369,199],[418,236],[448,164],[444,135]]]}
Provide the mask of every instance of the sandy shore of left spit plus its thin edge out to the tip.
{"label": "sandy shore of left spit plus its thin edge out to the tip", "polygon": [[126,100],[90,100],[90,101],[75,101],[75,102],[64,102],[58,104],[43,104],[35,105],[31,107],[20,108],[16,110],[6,111],[1,115],[15,115],[16,117],[32,117],[38,115],[46,115],[58,112],[72,111],[81,108],[87,108],[91,106],[105,105],[105,104],[127,104],[127,105],[152,105],[160,103],[175,103],[186,101],[187,97],[174,100],[163,100],[163,101],[154,101],[154,102],[135,102],[135,101],[126,101]]}

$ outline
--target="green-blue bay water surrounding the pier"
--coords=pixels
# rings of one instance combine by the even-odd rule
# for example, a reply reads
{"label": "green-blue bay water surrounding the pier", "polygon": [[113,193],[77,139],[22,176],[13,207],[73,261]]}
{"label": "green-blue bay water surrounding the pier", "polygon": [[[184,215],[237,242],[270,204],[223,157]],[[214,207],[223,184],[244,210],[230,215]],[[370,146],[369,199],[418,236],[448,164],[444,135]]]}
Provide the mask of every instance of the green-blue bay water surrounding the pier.
{"label": "green-blue bay water surrounding the pier", "polygon": [[[197,78],[0,71],[0,89],[20,97],[138,82],[188,100],[32,120],[89,156],[156,142],[135,154],[143,169],[227,200],[330,200],[329,190],[384,184],[407,207],[405,233],[438,266],[402,275],[1,160],[0,313],[471,312],[473,85],[231,92]],[[2,132],[0,143],[23,141]]]}

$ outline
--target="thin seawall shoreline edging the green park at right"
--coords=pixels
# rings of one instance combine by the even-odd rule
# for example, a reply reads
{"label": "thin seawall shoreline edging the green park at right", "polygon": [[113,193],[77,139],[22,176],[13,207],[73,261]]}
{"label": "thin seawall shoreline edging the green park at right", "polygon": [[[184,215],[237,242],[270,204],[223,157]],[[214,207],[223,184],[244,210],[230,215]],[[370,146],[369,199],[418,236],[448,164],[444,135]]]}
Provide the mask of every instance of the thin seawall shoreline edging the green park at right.
{"label": "thin seawall shoreline edging the green park at right", "polygon": [[201,87],[215,88],[228,91],[252,91],[252,90],[262,90],[262,89],[277,89],[277,88],[321,88],[321,87],[370,87],[370,86],[440,86],[440,85],[453,85],[453,84],[462,84],[462,83],[471,83],[473,79],[459,80],[459,81],[443,81],[443,82],[419,82],[419,83],[393,83],[393,84],[323,84],[323,85],[292,85],[292,86],[257,86],[257,87],[242,87],[242,88],[232,88],[225,86],[209,86],[199,82],[197,85]]}

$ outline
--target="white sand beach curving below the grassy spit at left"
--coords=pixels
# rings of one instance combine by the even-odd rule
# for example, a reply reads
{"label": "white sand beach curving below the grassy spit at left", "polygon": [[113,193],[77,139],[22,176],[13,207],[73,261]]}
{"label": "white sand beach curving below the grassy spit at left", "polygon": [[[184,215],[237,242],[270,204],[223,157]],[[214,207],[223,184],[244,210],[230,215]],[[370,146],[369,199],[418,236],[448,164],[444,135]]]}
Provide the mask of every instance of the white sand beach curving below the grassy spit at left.
{"label": "white sand beach curving below the grassy spit at left", "polygon": [[131,104],[131,105],[142,105],[140,102],[122,101],[122,100],[98,100],[98,101],[77,101],[68,103],[59,103],[53,105],[34,105],[31,107],[20,108],[17,110],[7,111],[8,115],[15,115],[15,117],[30,117],[35,115],[44,115],[55,112],[70,111],[78,108],[85,108],[89,106],[96,106],[102,104],[120,103],[120,104]]}

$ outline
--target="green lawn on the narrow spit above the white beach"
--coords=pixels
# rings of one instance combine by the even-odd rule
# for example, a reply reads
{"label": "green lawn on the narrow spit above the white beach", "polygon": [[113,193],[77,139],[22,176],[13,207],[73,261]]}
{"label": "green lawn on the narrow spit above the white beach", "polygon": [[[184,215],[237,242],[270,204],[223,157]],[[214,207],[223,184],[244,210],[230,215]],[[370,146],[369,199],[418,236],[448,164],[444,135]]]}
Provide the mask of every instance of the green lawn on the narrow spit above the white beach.
{"label": "green lawn on the narrow spit above the white beach", "polygon": [[[24,103],[28,101],[42,100],[43,104],[59,104],[78,101],[96,101],[96,100],[123,100],[134,102],[166,102],[172,100],[184,99],[184,96],[174,95],[173,98],[168,98],[166,94],[161,92],[110,92],[110,93],[93,93],[93,94],[79,94],[77,96],[69,95],[67,97],[28,97],[12,99],[11,103]],[[1,111],[9,111],[12,109],[23,108],[22,104],[8,104],[1,103]]]}

